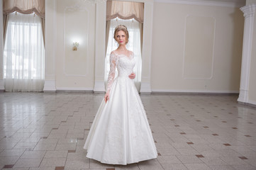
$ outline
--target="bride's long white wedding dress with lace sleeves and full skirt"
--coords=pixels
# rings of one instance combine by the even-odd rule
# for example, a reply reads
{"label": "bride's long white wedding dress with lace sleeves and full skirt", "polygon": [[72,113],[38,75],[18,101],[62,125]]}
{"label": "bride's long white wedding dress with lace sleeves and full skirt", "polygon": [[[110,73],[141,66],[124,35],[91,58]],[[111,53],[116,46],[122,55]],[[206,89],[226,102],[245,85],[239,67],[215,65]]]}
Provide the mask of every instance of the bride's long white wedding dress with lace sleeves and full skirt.
{"label": "bride's long white wedding dress with lace sleeves and full skirt", "polygon": [[129,56],[111,53],[109,100],[101,102],[84,144],[87,157],[101,163],[132,164],[157,157],[143,103],[128,77],[134,65],[133,52]]}

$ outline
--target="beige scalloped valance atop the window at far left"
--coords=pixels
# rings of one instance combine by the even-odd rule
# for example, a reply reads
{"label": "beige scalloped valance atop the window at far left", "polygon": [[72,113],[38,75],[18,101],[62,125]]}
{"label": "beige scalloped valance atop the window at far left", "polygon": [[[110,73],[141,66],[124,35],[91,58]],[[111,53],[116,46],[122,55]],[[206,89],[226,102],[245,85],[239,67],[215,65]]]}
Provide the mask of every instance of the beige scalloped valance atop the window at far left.
{"label": "beige scalloped valance atop the window at far left", "polygon": [[35,13],[40,18],[45,18],[45,0],[4,0],[4,14],[17,11],[23,14]]}

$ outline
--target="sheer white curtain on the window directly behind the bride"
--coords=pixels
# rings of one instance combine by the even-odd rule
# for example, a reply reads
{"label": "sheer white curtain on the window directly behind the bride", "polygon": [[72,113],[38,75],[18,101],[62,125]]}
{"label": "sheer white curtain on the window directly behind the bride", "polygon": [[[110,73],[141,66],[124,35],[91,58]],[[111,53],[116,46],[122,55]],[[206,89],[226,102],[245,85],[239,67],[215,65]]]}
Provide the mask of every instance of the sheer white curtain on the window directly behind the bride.
{"label": "sheer white curtain on the window directly behind the bride", "polygon": [[[134,52],[135,57],[135,67],[133,72],[136,74],[134,79],[135,86],[138,91],[140,91],[140,81],[141,81],[141,43],[140,43],[140,23],[134,19],[123,20],[120,18],[112,19],[110,22],[109,35],[108,35],[108,46],[106,50],[105,59],[105,86],[108,79],[109,72],[109,55],[111,51],[116,50],[118,43],[113,39],[113,33],[116,26],[122,24],[127,27],[129,32],[129,42],[126,45],[127,49]],[[116,74],[117,76],[117,74]]]}

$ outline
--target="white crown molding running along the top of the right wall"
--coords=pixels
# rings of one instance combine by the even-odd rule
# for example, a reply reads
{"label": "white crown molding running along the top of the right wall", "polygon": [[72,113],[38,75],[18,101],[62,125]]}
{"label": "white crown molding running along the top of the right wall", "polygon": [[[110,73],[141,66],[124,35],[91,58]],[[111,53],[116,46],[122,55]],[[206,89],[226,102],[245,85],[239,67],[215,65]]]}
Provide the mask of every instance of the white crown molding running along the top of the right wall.
{"label": "white crown molding running along the top of the right wall", "polygon": [[186,4],[186,5],[200,5],[200,6],[222,6],[231,8],[240,8],[245,6],[245,2],[223,2],[223,1],[204,1],[204,0],[155,0],[155,2],[169,3],[169,4]]}

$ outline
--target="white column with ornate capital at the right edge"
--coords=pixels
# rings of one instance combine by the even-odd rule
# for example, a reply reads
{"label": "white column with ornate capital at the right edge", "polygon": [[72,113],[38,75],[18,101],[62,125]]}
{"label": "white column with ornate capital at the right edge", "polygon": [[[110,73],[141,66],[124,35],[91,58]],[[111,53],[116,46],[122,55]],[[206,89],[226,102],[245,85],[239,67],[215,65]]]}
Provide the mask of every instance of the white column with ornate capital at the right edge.
{"label": "white column with ornate capital at the right edge", "polygon": [[243,55],[242,67],[240,76],[240,94],[238,101],[247,103],[249,81],[250,81],[250,62],[252,55],[252,34],[253,34],[253,21],[255,16],[256,4],[250,4],[240,8],[245,16],[245,26],[243,33]]}

